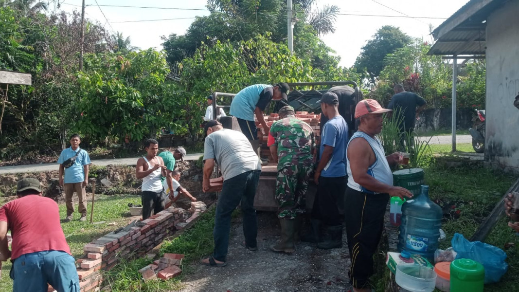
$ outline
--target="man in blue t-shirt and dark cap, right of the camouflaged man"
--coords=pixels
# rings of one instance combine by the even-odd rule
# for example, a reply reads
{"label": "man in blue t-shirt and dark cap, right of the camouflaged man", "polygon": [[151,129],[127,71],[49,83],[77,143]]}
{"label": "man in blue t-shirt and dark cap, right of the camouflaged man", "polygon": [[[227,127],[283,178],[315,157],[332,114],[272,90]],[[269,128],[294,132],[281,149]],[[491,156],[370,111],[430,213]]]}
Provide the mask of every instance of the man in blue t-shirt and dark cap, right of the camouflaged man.
{"label": "man in blue t-shirt and dark cap, right of the camouflaged man", "polygon": [[319,165],[313,179],[318,184],[320,219],[327,229],[327,237],[317,243],[318,248],[330,249],[343,246],[343,224],[338,204],[344,202],[346,191],[346,143],[348,124],[339,114],[339,98],[333,92],[323,94],[322,114],[329,121],[322,127]]}

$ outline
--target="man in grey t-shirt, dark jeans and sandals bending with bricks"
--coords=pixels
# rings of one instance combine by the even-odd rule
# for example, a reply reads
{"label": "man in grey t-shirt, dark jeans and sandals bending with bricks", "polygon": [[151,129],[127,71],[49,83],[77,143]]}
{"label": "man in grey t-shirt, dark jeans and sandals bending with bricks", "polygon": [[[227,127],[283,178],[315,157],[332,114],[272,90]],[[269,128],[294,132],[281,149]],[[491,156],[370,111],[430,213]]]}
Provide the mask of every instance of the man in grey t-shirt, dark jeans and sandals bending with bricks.
{"label": "man in grey t-shirt, dark jeans and sandals bending with bricks", "polygon": [[204,127],[202,190],[210,189],[209,178],[214,163],[220,166],[224,183],[216,205],[214,218],[213,254],[201,261],[211,267],[225,267],[229,245],[230,219],[234,209],[240,204],[243,215],[243,245],[249,250],[257,250],[257,219],[254,209],[254,196],[260,180],[261,163],[252,149],[251,143],[239,131],[224,129],[220,122],[209,121]]}

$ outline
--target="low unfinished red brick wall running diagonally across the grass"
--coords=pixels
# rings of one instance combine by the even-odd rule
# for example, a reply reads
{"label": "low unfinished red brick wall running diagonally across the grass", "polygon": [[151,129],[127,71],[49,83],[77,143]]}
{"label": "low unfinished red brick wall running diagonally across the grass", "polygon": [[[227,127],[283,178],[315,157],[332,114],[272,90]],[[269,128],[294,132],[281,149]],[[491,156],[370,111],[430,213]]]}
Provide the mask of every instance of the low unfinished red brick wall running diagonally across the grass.
{"label": "low unfinished red brick wall running diagonally across the grass", "polygon": [[110,232],[85,245],[83,258],[77,260],[81,292],[99,291],[103,281],[102,270],[110,270],[120,259],[135,254],[144,256],[164,238],[186,227],[205,209],[203,202],[193,202],[189,211],[169,207],[135,225],[128,225],[120,232]]}

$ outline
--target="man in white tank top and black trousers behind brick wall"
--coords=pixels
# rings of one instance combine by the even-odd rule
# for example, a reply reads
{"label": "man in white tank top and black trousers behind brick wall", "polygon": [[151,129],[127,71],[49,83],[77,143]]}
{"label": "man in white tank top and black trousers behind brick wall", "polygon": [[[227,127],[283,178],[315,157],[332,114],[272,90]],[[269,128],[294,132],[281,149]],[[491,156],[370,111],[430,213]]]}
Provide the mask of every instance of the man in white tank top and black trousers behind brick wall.
{"label": "man in white tank top and black trousers behind brick wall", "polygon": [[161,181],[161,177],[166,176],[166,166],[162,157],[157,156],[159,142],[155,139],[146,140],[144,150],[147,155],[139,158],[135,169],[137,179],[142,179],[142,220],[152,215],[152,209],[155,214],[162,211],[166,196]]}

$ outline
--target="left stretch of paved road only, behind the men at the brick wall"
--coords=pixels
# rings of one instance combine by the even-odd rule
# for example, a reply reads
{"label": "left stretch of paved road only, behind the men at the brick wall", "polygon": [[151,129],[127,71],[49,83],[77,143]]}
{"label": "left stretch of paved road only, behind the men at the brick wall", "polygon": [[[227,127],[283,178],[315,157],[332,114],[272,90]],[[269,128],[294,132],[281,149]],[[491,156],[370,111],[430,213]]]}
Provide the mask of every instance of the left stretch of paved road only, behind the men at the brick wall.
{"label": "left stretch of paved road only, behind the men at the brick wall", "polygon": [[[200,157],[201,155],[203,155],[203,153],[187,154],[184,159],[185,160],[198,160],[198,157]],[[138,158],[139,157],[92,160],[92,164],[98,165],[98,166],[106,166],[109,164],[136,165]],[[0,167],[0,174],[16,174],[16,173],[20,173],[20,172],[41,172],[41,171],[51,171],[51,170],[58,170],[58,164],[42,163],[42,164],[31,164],[31,165],[3,166],[3,167]]]}

